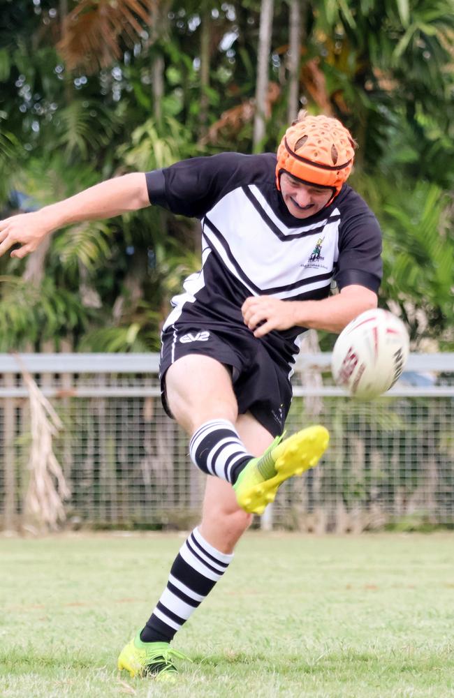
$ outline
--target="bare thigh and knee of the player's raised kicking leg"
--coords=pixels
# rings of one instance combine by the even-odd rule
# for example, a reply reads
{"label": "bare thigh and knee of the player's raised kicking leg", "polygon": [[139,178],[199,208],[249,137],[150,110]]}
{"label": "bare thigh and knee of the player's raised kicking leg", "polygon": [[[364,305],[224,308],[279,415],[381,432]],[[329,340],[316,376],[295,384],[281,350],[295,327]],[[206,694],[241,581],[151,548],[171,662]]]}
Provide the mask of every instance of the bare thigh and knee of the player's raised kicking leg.
{"label": "bare thigh and knee of the player's raised kicking leg", "polygon": [[178,424],[190,435],[210,419],[237,419],[230,371],[202,354],[188,354],[169,366],[166,401]]}

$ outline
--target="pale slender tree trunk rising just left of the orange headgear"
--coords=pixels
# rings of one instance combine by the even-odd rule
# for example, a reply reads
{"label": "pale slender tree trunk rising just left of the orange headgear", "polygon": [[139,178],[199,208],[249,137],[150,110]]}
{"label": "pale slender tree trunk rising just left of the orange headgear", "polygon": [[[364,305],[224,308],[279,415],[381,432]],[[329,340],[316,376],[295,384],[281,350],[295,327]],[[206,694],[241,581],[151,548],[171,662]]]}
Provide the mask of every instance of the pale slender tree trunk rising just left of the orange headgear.
{"label": "pale slender tree trunk rising just left of the orange headgear", "polygon": [[258,32],[258,65],[256,84],[256,115],[254,118],[253,150],[261,150],[265,138],[265,114],[268,94],[268,66],[272,35],[273,0],[262,0]]}

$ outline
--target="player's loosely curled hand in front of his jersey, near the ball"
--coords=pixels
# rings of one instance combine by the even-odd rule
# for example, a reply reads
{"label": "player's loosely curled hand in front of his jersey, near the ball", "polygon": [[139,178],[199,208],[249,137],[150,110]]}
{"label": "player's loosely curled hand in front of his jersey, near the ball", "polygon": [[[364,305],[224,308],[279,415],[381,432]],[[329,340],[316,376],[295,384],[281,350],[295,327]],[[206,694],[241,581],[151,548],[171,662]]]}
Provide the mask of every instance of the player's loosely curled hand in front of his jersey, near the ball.
{"label": "player's loosely curled hand in front of his jersey, near the ball", "polygon": [[244,301],[241,311],[244,325],[254,332],[254,337],[263,337],[272,329],[288,329],[297,324],[295,304],[272,296],[251,296]]}

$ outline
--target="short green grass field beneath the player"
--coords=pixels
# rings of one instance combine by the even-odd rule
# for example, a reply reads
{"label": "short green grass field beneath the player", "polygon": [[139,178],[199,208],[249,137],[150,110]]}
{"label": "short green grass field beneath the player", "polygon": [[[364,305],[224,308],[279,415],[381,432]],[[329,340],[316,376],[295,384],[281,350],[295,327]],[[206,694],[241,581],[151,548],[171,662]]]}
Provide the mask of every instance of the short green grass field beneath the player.
{"label": "short green grass field beneath the player", "polygon": [[177,637],[177,684],[120,677],[182,540],[0,538],[1,698],[454,696],[450,533],[251,533]]}

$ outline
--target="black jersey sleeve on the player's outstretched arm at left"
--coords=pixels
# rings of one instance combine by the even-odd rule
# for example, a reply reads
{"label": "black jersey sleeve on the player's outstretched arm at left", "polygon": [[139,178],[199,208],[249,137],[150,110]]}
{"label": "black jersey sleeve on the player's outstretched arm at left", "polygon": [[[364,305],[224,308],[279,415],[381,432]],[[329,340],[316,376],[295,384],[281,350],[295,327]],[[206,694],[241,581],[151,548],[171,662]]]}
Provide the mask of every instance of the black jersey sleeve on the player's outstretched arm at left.
{"label": "black jersey sleeve on the player's outstretched arm at left", "polygon": [[244,158],[248,156],[220,153],[147,172],[149,201],[174,214],[202,218],[229,186],[242,184],[249,169]]}

